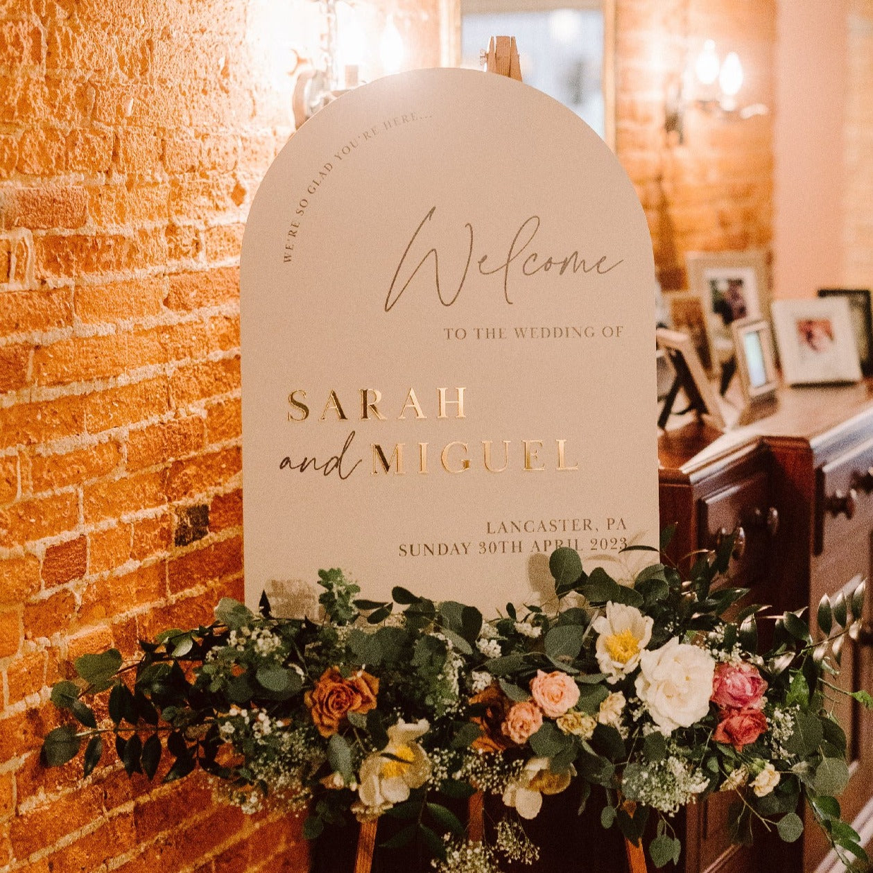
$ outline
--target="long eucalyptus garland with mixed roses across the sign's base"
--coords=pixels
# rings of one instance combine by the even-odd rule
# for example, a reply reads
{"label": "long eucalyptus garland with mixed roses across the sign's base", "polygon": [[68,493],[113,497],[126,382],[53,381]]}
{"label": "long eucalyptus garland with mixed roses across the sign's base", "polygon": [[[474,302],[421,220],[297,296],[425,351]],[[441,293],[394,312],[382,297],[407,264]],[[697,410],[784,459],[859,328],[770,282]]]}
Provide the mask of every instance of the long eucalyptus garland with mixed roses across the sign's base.
{"label": "long eucalyptus garland with mixed roses across the sign's base", "polygon": [[[308,810],[310,839],[390,815],[402,823],[391,847],[419,842],[455,873],[532,863],[524,822],[574,780],[629,842],[656,813],[657,867],[679,857],[670,816],[685,804],[734,791],[739,839],[762,821],[791,842],[805,798],[842,862],[864,869],[835,799],[849,771],[831,681],[863,584],[822,599],[815,638],[804,610],[776,618],[759,653],[762,608],[722,580],[731,549],[693,556],[688,581],[656,563],[620,584],[561,548],[553,608],[507,604],[491,621],[404,588],[362,600],[339,570],[320,572],[317,621],[274,617],[265,598],[258,614],[223,600],[216,623],[141,642],[134,663],[117,650],[79,657],[52,689],[79,725],[47,735],[45,761],[84,743],[87,775],[109,734],[128,774],[169,781],[200,767],[247,812]],[[99,724],[86,699],[107,692]],[[441,801],[475,792],[502,799],[492,842],[469,842]]]}

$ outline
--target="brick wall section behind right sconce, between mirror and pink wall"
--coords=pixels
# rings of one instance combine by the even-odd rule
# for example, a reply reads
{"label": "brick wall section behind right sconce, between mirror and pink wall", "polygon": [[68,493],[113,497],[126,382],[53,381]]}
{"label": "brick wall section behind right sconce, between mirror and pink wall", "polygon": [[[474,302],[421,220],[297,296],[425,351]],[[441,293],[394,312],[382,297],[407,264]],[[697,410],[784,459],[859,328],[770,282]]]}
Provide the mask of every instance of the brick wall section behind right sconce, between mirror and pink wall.
{"label": "brick wall section behind right sconce, between mirror and pink wall", "polygon": [[686,251],[766,248],[773,227],[773,116],[685,113],[685,139],[663,127],[664,94],[686,45],[716,41],[742,59],[743,105],[773,111],[776,0],[615,0],[616,153],[649,217],[664,288],[686,284]]}

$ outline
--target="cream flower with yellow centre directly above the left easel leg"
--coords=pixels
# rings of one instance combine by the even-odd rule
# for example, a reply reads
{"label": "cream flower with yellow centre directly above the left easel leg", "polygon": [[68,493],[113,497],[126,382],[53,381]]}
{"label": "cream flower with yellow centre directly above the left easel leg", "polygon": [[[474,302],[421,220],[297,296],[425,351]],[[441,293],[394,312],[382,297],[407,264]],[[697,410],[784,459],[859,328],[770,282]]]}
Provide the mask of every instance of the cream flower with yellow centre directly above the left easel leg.
{"label": "cream flower with yellow centre directly above the left easel leg", "polygon": [[430,728],[427,719],[412,724],[398,721],[388,728],[388,746],[361,764],[358,796],[369,809],[384,809],[409,798],[409,790],[423,786],[430,776],[430,760],[416,739]]}

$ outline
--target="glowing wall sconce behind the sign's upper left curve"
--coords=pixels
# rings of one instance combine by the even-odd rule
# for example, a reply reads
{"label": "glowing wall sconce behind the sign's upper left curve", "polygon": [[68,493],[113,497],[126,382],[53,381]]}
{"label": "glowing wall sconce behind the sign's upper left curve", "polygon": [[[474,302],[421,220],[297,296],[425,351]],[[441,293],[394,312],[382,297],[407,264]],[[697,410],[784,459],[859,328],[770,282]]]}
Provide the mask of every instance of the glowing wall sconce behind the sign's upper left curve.
{"label": "glowing wall sconce behind the sign's upper left curve", "polygon": [[[398,72],[406,58],[406,46],[393,15],[385,19],[380,37],[378,24],[374,27],[373,21],[365,21],[355,12],[354,0],[318,3],[322,19],[318,58],[305,66],[294,86],[295,129],[331,100],[366,81],[361,79],[361,69],[375,75]],[[369,64],[368,56],[372,58]]]}

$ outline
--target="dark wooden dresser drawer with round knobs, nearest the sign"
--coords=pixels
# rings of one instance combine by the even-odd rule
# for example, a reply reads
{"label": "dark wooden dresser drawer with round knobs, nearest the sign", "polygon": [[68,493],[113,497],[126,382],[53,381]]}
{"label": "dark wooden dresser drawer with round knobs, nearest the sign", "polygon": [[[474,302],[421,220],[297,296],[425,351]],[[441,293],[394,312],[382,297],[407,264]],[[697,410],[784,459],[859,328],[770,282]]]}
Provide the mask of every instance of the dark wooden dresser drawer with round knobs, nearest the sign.
{"label": "dark wooden dresser drawer with round knobs, nearest the sign", "polygon": [[779,530],[779,512],[771,503],[767,471],[755,472],[701,498],[698,512],[702,548],[718,548],[730,534],[736,538],[728,571],[732,582],[748,587],[760,581]]}

